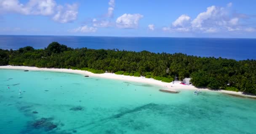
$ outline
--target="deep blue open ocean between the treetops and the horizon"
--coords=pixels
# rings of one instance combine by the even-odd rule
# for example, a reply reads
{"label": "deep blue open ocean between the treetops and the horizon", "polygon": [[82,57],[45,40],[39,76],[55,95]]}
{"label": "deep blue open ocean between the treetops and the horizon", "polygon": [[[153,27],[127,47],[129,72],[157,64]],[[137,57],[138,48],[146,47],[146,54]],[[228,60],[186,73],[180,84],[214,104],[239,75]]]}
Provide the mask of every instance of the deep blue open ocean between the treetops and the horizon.
{"label": "deep blue open ocean between the treetops and the horizon", "polygon": [[183,53],[200,57],[256,59],[256,39],[100,37],[100,36],[0,36],[0,49],[33,46],[41,49],[53,41],[72,48],[119,49],[155,53]]}

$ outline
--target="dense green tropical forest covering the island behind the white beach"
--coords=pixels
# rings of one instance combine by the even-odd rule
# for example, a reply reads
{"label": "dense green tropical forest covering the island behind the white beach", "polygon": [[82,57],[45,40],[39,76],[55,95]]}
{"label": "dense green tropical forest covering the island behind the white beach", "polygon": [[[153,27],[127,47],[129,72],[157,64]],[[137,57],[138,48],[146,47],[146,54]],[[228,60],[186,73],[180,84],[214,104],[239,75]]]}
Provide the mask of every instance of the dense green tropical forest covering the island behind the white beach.
{"label": "dense green tropical forest covering the island behind the white beach", "polygon": [[[236,61],[186,54],[129,52],[118,49],[71,49],[57,42],[45,49],[31,46],[19,50],[0,49],[0,65],[71,68],[93,73],[117,72],[171,82],[192,78],[196,87],[238,90],[256,94],[256,60]],[[228,85],[227,85],[228,84]]]}

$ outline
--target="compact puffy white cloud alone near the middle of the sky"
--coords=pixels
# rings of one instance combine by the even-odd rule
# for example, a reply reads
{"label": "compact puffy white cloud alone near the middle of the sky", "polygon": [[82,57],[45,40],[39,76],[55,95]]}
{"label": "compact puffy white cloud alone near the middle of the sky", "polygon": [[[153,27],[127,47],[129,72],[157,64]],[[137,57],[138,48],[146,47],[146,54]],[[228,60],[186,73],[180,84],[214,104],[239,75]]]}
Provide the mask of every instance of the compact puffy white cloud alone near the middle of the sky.
{"label": "compact puffy white cloud alone near the middle of the sky", "polygon": [[143,15],[136,14],[123,14],[116,20],[118,28],[137,28],[139,26],[139,20],[143,18]]}

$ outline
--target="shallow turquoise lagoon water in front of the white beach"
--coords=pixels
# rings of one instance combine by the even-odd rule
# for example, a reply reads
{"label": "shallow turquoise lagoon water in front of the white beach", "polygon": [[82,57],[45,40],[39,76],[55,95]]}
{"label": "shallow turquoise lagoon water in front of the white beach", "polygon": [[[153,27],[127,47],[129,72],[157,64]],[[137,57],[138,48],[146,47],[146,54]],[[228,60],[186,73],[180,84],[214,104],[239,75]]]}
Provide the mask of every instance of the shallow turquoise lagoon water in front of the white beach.
{"label": "shallow turquoise lagoon water in front of the white beach", "polygon": [[69,73],[0,70],[0,134],[255,134],[256,100],[158,89]]}

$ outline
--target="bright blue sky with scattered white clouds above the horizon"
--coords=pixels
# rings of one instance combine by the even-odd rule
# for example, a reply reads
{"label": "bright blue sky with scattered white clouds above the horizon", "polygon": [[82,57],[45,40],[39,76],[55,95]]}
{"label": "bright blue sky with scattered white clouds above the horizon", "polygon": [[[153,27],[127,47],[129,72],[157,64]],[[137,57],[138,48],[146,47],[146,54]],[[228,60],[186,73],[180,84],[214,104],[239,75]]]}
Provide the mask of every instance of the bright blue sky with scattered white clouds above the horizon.
{"label": "bright blue sky with scattered white clouds above the horizon", "polygon": [[0,35],[256,38],[256,0],[0,0]]}

